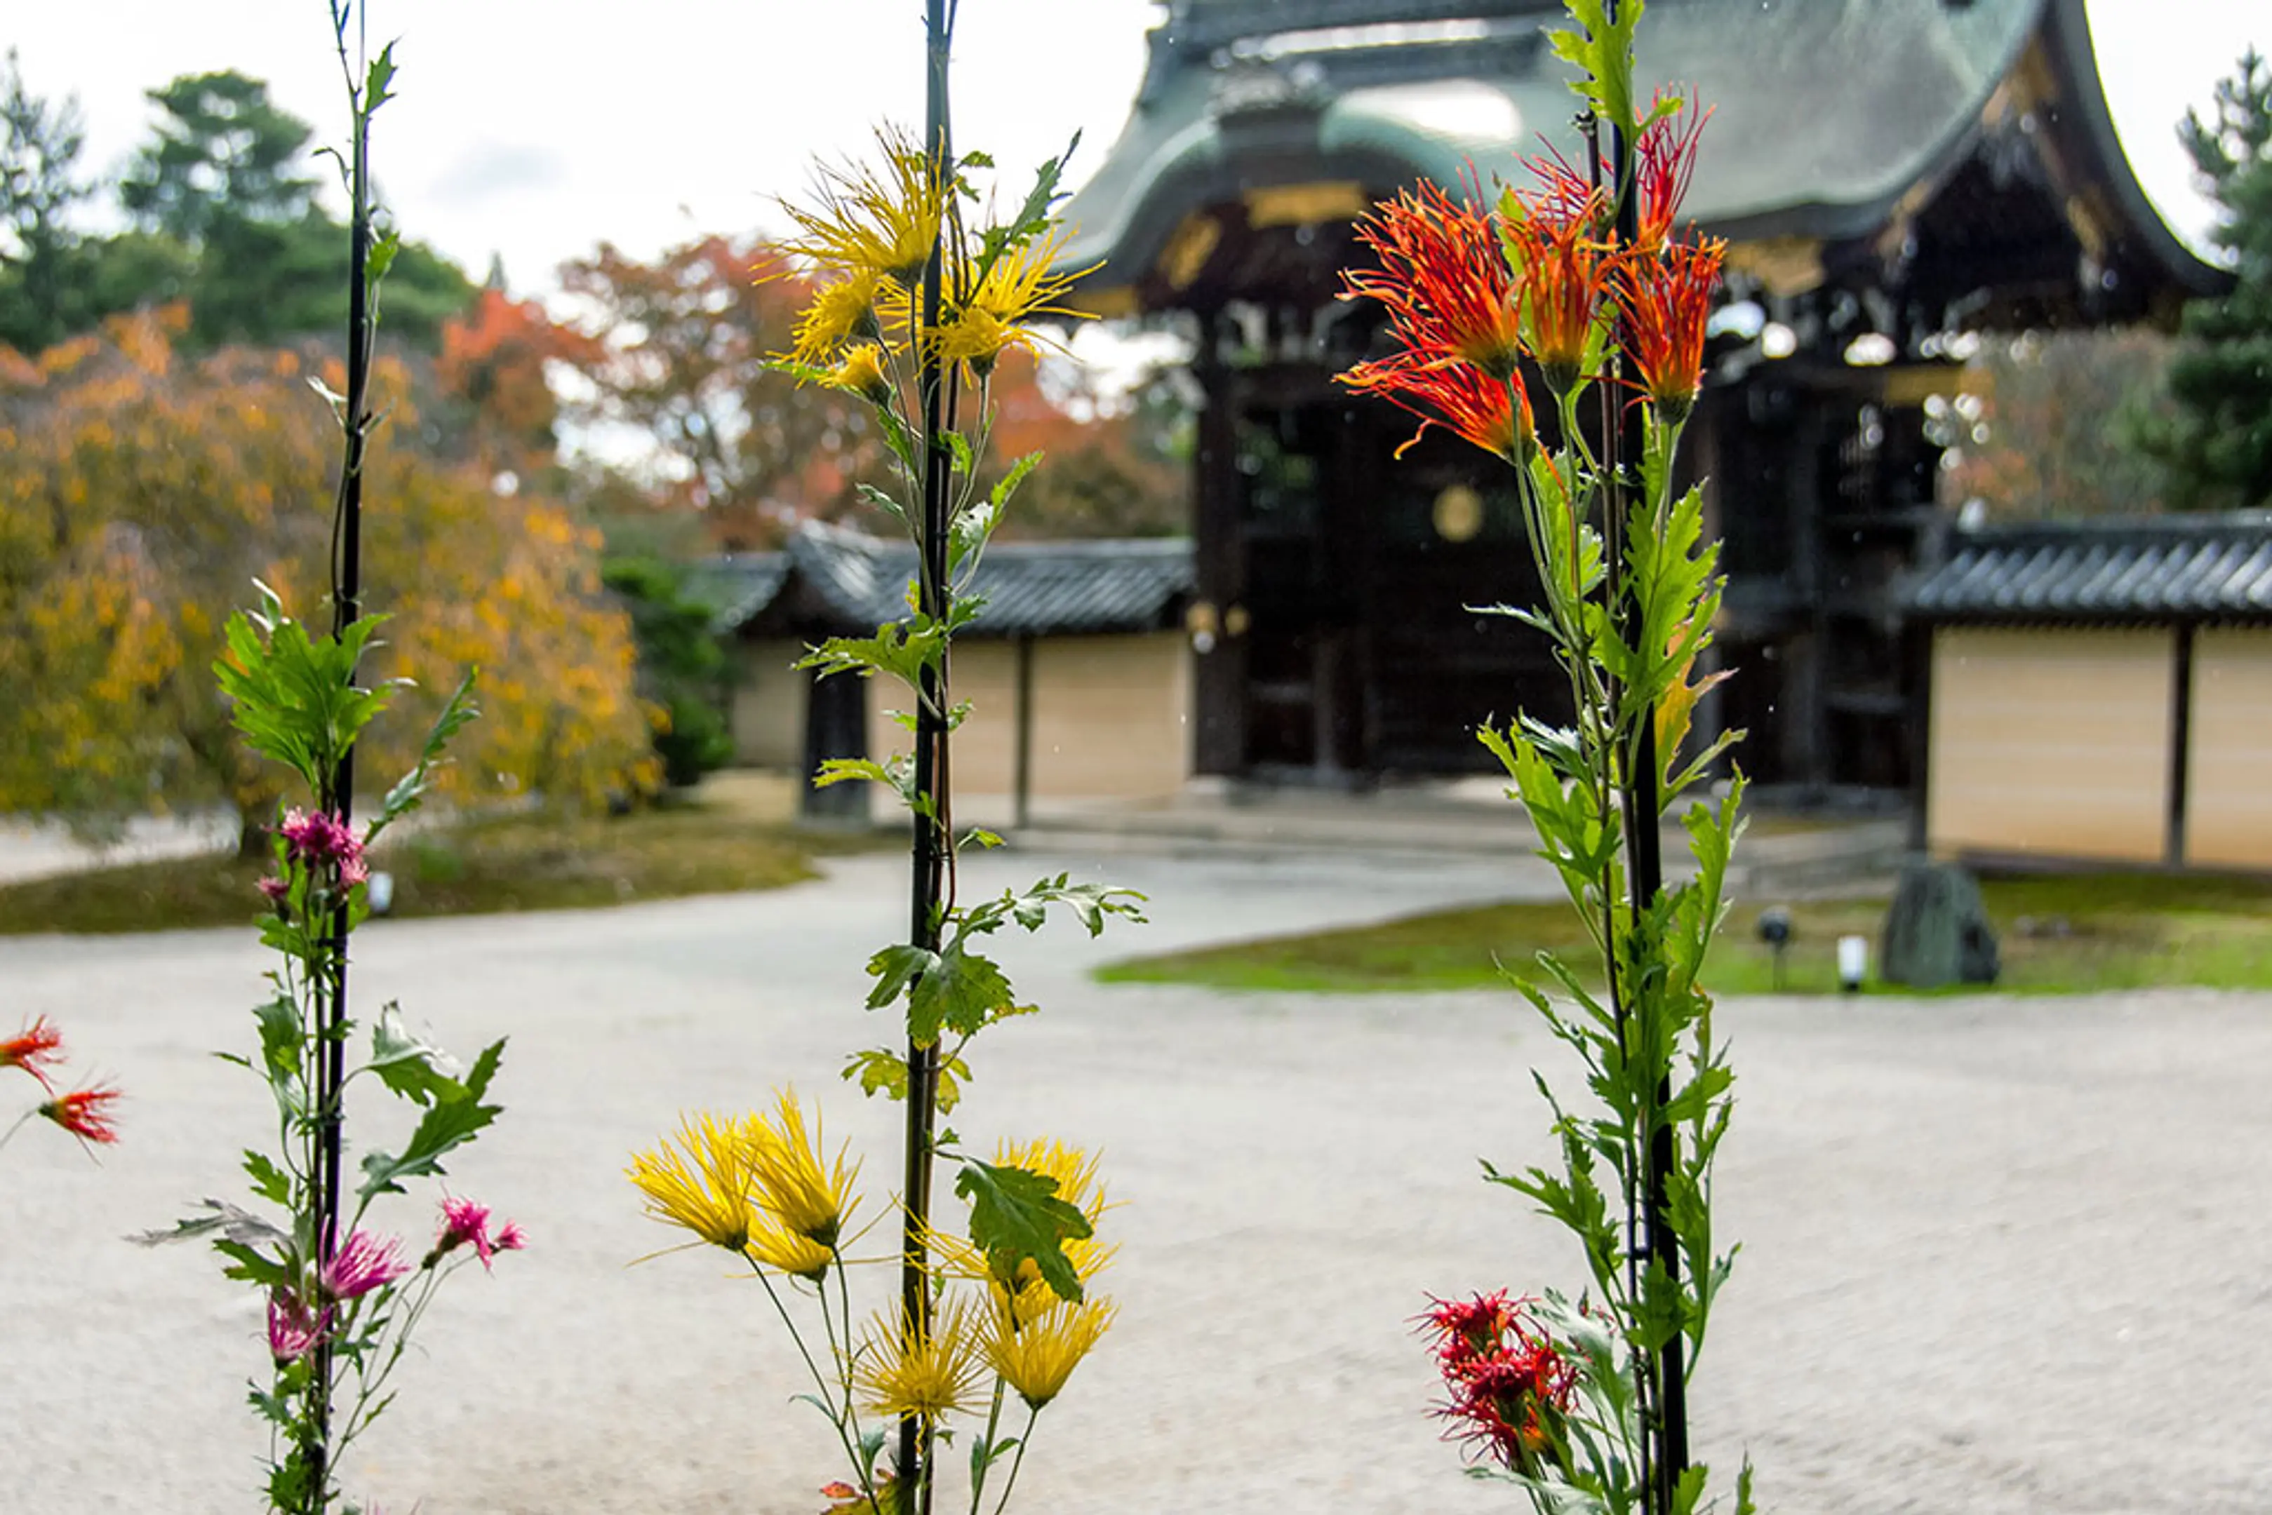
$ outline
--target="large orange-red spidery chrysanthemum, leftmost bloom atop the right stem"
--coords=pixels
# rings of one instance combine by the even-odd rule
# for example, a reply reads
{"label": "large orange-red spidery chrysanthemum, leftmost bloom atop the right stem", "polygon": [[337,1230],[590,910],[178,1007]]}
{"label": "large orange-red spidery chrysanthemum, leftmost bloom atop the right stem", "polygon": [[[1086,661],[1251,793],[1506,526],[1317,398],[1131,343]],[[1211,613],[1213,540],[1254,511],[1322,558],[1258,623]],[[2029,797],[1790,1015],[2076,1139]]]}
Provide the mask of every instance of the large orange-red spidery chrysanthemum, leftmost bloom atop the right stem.
{"label": "large orange-red spidery chrysanthemum, leftmost bloom atop the right stem", "polygon": [[1497,216],[1422,182],[1356,223],[1356,241],[1379,268],[1343,273],[1343,300],[1379,300],[1388,329],[1422,361],[1456,357],[1504,379],[1522,361],[1513,279],[1500,252]]}

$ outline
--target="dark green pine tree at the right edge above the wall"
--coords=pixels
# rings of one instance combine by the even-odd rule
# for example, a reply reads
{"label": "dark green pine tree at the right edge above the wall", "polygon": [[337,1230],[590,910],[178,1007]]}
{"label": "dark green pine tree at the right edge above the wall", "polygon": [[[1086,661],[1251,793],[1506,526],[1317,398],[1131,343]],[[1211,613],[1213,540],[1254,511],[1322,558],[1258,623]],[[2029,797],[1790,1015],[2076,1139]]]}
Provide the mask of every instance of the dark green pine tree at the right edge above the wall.
{"label": "dark green pine tree at the right edge above the wall", "polygon": [[2249,50],[2217,84],[2213,118],[2186,111],[2186,152],[2224,207],[2213,232],[2233,257],[2233,288],[2186,307],[2170,363],[2174,416],[2138,443],[2181,509],[2272,507],[2272,66]]}

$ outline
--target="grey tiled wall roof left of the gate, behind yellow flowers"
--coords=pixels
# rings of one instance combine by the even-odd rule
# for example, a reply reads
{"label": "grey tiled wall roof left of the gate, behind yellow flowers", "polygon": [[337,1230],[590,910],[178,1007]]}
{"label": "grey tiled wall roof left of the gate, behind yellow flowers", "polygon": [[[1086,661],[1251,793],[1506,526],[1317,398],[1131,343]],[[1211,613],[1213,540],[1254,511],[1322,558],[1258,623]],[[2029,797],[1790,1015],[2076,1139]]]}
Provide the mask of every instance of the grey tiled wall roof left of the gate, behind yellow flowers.
{"label": "grey tiled wall roof left of the gate, behind yellow flowers", "polygon": [[[722,609],[732,631],[797,586],[827,629],[857,631],[907,616],[916,547],[863,531],[804,522],[786,552],[713,559],[704,570],[752,588]],[[763,597],[757,586],[770,581]],[[1186,538],[995,543],[979,559],[968,593],[986,597],[972,636],[1066,636],[1156,631],[1177,625],[1193,593]],[[722,604],[722,597],[720,597]]]}

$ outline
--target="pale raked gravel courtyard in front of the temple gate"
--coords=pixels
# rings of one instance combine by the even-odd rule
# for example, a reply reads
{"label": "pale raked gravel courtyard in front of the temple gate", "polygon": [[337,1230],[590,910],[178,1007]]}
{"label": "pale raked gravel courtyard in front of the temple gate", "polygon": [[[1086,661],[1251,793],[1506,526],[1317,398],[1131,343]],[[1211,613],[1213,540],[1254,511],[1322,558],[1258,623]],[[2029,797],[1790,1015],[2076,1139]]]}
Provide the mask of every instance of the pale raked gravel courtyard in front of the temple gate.
{"label": "pale raked gravel courtyard in front of the temple gate", "polygon": [[[982,859],[972,886],[1081,859]],[[1138,949],[1509,893],[1472,863],[1118,859],[1156,922],[1052,927],[1004,961],[1043,1015],[977,1049],[954,1124],[1104,1149],[1116,1331],[1043,1420],[1020,1508],[1052,1515],[1520,1508],[1425,1417],[1427,1292],[1574,1283],[1475,1158],[1545,1156],[1497,995],[1222,997],[1095,986]],[[511,1106],[452,1167],[532,1249],[436,1304],[350,1485],[389,1515],[807,1515],[836,1467],[763,1301],[673,1242],[620,1177],[682,1106],[793,1081],[891,1167],[893,1106],[834,1077],[904,918],[891,859],[770,895],[588,915],[379,922],[359,1002],[441,1040],[511,1033]],[[266,1099],[243,1047],[250,934],[0,940],[0,1029],[48,1013],[130,1093],[98,1172],[52,1131],[0,1154],[0,1508],[252,1510],[257,1306],[127,1231],[234,1195]],[[1695,1390],[1699,1451],[1749,1449],[1790,1515],[2272,1510],[2272,997],[1752,999],[1724,1236],[1743,1238]],[[30,1086],[0,1083],[11,1099]],[[11,1106],[0,1106],[0,1120]],[[429,1222],[407,1208],[404,1231]],[[886,1288],[879,1279],[877,1288]],[[943,1506],[945,1508],[945,1506]]]}

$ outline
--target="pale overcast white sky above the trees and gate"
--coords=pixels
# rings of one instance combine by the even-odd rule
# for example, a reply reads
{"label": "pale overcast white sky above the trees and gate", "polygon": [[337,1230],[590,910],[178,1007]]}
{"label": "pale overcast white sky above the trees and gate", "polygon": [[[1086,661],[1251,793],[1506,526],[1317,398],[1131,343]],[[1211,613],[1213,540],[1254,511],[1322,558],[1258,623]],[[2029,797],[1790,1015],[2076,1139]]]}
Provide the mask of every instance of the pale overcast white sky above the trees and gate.
{"label": "pale overcast white sky above the trees and gate", "polygon": [[[323,0],[18,0],[0,41],[36,93],[75,93],[86,164],[114,170],[148,136],[143,91],[239,68],[343,136],[345,104]],[[968,0],[957,39],[963,148],[1009,166],[1084,132],[1095,168],[1143,75],[1152,0]],[[2263,0],[2090,0],[2122,141],[2188,236],[2208,209],[2174,123],[2254,43]],[[373,161],[404,232],[475,277],[495,252],[516,293],[602,238],[652,254],[698,232],[779,225],[813,154],[857,152],[879,116],[920,114],[918,0],[377,0],[373,43],[400,36],[400,98]]]}

